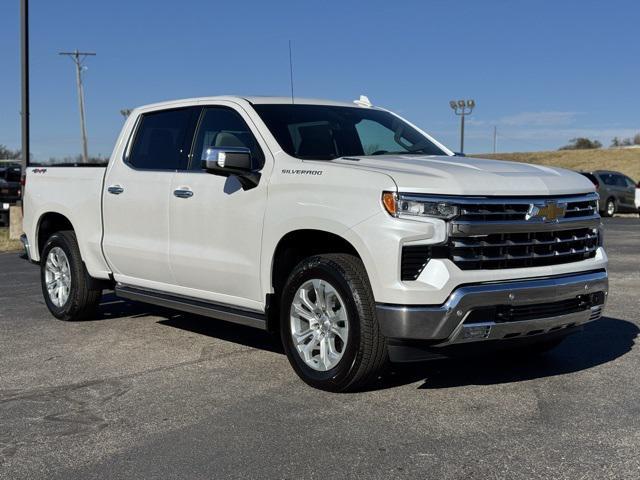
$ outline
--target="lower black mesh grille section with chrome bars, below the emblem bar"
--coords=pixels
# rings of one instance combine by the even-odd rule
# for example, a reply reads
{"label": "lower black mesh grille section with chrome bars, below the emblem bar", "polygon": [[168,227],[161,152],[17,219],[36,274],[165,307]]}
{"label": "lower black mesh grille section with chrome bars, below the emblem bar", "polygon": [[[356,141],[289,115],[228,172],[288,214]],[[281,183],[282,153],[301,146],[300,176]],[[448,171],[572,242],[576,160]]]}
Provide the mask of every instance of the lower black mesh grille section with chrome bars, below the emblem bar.
{"label": "lower black mesh grille section with chrome bars, below the emblem bar", "polygon": [[580,228],[556,232],[496,233],[456,237],[448,258],[462,270],[539,267],[592,258],[598,230]]}

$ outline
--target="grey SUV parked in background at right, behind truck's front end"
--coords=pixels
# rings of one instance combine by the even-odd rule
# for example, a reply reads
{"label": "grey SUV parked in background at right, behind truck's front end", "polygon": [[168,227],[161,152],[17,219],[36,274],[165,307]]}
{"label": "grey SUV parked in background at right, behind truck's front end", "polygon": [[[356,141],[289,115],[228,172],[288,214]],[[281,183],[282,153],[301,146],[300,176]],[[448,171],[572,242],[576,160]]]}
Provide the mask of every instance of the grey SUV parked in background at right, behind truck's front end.
{"label": "grey SUV parked in background at right, behind truck's front end", "polygon": [[[580,172],[596,186],[600,195],[600,215],[611,217],[616,213],[638,212],[636,182],[625,174],[609,170]],[[640,184],[638,184],[640,185]]]}

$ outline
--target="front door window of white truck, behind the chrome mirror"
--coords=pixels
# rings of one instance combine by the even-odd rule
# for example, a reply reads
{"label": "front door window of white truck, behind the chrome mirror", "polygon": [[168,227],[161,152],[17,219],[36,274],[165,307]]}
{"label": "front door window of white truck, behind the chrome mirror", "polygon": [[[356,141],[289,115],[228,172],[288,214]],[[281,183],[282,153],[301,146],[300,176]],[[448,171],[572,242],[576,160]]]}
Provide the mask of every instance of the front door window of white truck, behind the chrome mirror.
{"label": "front door window of white truck, behind the chrome mirror", "polygon": [[235,110],[209,107],[202,112],[198,132],[193,143],[191,170],[202,168],[202,153],[208,147],[246,147],[258,167],[264,164],[264,154],[249,126]]}

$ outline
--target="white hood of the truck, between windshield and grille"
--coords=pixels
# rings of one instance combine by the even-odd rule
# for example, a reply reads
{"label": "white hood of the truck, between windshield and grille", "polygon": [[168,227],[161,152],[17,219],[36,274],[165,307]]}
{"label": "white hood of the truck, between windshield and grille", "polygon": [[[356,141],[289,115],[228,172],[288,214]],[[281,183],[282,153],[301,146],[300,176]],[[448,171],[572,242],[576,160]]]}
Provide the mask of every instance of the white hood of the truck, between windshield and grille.
{"label": "white hood of the truck, between windshield and grille", "polygon": [[333,162],[385,173],[400,192],[524,196],[595,190],[587,178],[571,170],[486,158],[380,155]]}

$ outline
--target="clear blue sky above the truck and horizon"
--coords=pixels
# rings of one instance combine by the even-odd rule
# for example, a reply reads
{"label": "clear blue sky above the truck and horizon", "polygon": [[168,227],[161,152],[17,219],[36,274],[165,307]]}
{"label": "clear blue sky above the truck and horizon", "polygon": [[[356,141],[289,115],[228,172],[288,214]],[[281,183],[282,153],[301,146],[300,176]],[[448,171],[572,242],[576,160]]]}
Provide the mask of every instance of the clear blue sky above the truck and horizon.
{"label": "clear blue sky above the truck and horizon", "polygon": [[[467,152],[608,145],[640,131],[637,1],[31,0],[32,151],[80,152],[75,72],[90,50],[91,154],[108,156],[121,108],[218,94],[366,94],[458,149],[449,100],[474,98]],[[0,3],[0,144],[20,143],[19,1]]]}

